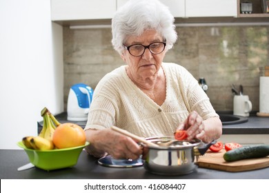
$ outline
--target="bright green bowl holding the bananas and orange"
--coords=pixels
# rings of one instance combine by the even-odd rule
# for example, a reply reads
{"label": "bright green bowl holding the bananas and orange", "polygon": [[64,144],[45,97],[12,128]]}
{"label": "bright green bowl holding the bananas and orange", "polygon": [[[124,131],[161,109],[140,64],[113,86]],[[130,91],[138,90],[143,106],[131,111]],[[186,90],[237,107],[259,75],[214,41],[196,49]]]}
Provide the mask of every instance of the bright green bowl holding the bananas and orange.
{"label": "bright green bowl holding the bananas and orange", "polygon": [[79,155],[83,148],[90,143],[86,142],[85,145],[77,146],[74,148],[64,148],[55,150],[32,150],[26,148],[21,141],[17,143],[20,148],[26,151],[30,162],[43,170],[58,170],[66,167],[72,167],[77,164]]}

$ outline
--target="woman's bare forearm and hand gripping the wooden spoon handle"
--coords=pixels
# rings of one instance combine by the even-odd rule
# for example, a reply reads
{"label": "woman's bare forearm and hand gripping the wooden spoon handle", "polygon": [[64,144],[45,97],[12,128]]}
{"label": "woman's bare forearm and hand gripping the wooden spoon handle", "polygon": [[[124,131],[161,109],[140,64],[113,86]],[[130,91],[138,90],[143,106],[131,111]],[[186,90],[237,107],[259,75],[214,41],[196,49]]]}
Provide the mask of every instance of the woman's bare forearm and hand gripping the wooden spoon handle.
{"label": "woman's bare forearm and hand gripping the wooden spoon handle", "polygon": [[96,157],[110,154],[114,159],[138,159],[143,153],[140,146],[130,137],[108,128],[105,130],[86,130],[90,145],[86,151]]}

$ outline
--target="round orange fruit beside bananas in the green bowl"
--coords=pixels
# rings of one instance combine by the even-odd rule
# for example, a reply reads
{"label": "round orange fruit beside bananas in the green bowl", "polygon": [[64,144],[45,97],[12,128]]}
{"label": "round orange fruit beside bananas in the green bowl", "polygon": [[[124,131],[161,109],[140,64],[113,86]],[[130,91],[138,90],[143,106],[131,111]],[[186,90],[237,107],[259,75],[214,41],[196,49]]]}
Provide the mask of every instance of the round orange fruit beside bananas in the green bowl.
{"label": "round orange fruit beside bananas in the green bowl", "polygon": [[62,123],[54,131],[52,142],[58,149],[85,145],[86,134],[81,126],[74,123]]}

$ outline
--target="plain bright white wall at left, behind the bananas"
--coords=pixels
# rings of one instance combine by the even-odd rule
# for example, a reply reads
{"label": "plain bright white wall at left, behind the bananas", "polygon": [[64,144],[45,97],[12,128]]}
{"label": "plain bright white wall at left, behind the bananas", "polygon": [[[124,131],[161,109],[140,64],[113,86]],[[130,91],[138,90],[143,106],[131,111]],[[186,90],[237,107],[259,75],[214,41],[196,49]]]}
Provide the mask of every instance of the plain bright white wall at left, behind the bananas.
{"label": "plain bright white wall at left, behind the bananas", "polygon": [[62,27],[49,0],[0,0],[0,149],[37,135],[40,112],[63,112]]}

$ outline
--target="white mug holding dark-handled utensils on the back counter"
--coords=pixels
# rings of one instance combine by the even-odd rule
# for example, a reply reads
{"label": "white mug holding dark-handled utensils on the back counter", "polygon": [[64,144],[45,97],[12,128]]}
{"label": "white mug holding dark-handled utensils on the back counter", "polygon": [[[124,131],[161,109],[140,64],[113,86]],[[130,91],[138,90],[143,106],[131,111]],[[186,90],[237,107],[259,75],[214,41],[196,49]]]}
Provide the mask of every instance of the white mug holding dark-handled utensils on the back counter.
{"label": "white mug holding dark-handled utensils on the back counter", "polygon": [[239,116],[250,116],[252,103],[248,95],[235,95],[234,97],[234,114]]}

